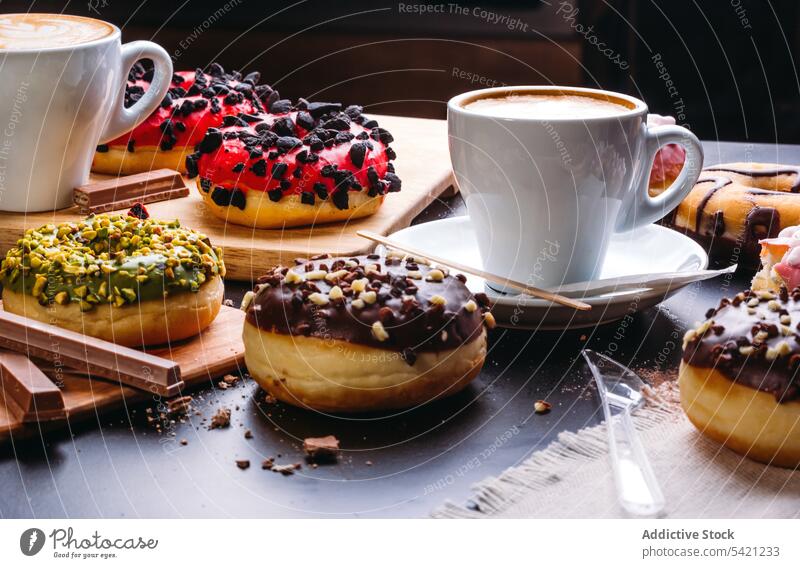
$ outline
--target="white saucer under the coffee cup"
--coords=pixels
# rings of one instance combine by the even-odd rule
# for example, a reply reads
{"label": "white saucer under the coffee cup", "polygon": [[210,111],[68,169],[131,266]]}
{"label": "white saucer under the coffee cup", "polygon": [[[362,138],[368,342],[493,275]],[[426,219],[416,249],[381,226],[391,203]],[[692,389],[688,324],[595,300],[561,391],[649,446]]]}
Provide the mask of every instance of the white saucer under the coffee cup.
{"label": "white saucer under the coffee cup", "polygon": [[[483,268],[469,217],[451,217],[414,225],[392,234],[391,238],[421,252]],[[582,298],[592,306],[589,311],[564,308],[525,295],[500,294],[476,276],[468,276],[467,286],[473,292],[486,292],[494,302],[492,313],[498,325],[516,329],[561,330],[616,321],[627,314],[655,306],[689,283],[685,280],[665,283],[663,279],[659,280],[659,274],[703,270],[707,265],[708,256],[692,239],[660,225],[649,225],[611,238],[599,278],[648,273],[659,284],[652,288]]]}

